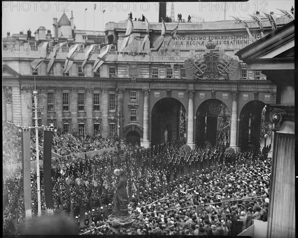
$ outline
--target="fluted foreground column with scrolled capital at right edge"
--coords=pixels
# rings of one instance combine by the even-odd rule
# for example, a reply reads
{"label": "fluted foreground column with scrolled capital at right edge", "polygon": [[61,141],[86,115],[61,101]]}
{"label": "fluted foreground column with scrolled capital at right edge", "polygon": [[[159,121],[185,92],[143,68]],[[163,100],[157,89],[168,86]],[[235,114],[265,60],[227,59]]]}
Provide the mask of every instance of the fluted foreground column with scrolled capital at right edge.
{"label": "fluted foreground column with scrolled capital at right edge", "polygon": [[295,106],[267,105],[266,116],[275,123],[267,237],[294,238]]}

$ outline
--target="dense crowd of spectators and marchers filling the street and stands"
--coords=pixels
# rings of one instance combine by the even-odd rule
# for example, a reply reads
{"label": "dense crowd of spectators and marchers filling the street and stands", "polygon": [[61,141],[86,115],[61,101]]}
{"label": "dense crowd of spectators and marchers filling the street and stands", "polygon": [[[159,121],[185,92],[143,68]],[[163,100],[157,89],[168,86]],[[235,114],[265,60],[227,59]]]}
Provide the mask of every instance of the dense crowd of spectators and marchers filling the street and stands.
{"label": "dense crowd of spectators and marchers filling the street and stands", "polygon": [[[20,134],[12,124],[3,122],[4,126],[11,131],[9,134]],[[264,152],[249,149],[234,154],[228,145],[210,143],[191,150],[186,141],[181,140],[147,149],[127,145],[120,154],[119,151],[83,157],[73,154],[76,150],[115,146],[117,140],[114,139],[103,139],[100,135],[54,137],[54,150],[70,153],[52,160],[54,211],[74,219],[78,234],[229,236],[251,226],[253,219],[267,220],[271,158],[267,159]],[[6,150],[14,151],[8,147]],[[34,157],[34,149],[31,154]],[[12,153],[3,152],[3,159],[9,155]],[[128,210],[135,219],[130,229],[119,228],[118,233],[106,223],[112,213],[115,168],[126,171]],[[19,234],[25,220],[22,171],[18,169],[3,178],[4,234]],[[43,169],[40,180],[41,212],[46,214]],[[31,194],[32,216],[36,217],[37,173],[34,169]],[[224,197],[231,199],[226,210],[222,206]],[[202,210],[198,210],[198,206]],[[78,217],[82,212],[85,219],[80,224]]]}

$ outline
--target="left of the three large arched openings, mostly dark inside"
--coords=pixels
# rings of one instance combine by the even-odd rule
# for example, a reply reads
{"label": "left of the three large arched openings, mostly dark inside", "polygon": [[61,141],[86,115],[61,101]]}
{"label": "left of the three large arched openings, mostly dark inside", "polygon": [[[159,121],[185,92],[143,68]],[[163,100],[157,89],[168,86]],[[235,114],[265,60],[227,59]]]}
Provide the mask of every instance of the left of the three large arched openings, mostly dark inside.
{"label": "left of the three large arched openings, mostly dark inside", "polygon": [[175,98],[162,98],[151,112],[151,145],[181,140],[186,134],[186,110]]}

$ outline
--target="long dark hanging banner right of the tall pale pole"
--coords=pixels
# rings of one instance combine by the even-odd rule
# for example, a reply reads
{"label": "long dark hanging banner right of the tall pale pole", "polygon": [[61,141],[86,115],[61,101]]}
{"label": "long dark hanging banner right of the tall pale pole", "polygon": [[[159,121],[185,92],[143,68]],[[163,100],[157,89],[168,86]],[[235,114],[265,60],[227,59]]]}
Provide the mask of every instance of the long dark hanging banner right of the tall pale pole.
{"label": "long dark hanging banner right of the tall pale pole", "polygon": [[54,215],[52,189],[52,137],[53,131],[44,131],[44,186],[45,202],[48,215]]}

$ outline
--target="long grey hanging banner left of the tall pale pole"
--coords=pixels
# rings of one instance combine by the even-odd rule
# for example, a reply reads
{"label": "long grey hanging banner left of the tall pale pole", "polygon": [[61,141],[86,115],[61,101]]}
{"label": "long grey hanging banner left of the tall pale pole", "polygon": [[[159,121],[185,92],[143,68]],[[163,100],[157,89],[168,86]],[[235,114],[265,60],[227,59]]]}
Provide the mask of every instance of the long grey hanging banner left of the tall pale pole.
{"label": "long grey hanging banner left of the tall pale pole", "polygon": [[22,132],[22,166],[24,184],[25,218],[32,217],[31,210],[31,164],[30,164],[30,131]]}

